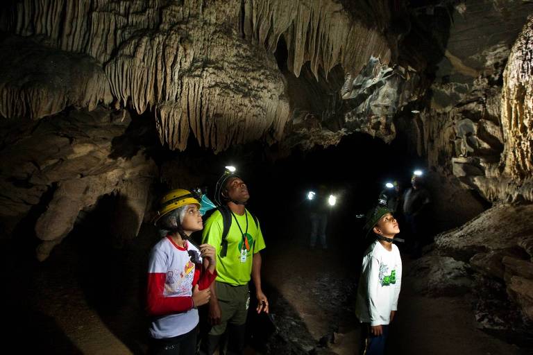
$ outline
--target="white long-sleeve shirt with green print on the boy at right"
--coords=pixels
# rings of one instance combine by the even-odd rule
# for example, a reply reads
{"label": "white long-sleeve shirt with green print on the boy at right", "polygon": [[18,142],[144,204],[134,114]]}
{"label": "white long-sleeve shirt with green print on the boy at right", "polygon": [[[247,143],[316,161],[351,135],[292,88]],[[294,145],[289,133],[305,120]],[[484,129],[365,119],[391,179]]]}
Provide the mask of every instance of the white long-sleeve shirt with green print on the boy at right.
{"label": "white long-sleeve shirt with green print on the boy at right", "polygon": [[355,314],[361,322],[371,325],[389,324],[391,311],[398,307],[402,284],[402,259],[396,245],[387,250],[374,241],[366,250],[359,286]]}

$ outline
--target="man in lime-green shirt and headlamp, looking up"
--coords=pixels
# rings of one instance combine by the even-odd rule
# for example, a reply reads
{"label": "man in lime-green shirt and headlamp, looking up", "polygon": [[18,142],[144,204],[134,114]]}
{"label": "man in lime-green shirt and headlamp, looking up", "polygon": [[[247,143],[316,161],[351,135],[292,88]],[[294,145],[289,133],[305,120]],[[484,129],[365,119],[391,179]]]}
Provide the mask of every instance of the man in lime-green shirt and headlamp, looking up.
{"label": "man in lime-green shirt and headlamp, looking up", "polygon": [[[239,176],[226,173],[219,180],[216,200],[231,215],[231,225],[223,241],[223,216],[217,210],[208,218],[203,243],[217,248],[217,279],[211,284],[209,334],[203,337],[200,354],[212,355],[221,336],[228,331],[228,354],[242,354],[246,336],[246,315],[250,303],[248,282],[253,279],[257,313],[269,313],[269,302],[261,288],[261,254],[265,248],[261,228],[245,205],[250,194]],[[227,244],[226,244],[227,242]],[[226,245],[225,245],[226,244]]]}

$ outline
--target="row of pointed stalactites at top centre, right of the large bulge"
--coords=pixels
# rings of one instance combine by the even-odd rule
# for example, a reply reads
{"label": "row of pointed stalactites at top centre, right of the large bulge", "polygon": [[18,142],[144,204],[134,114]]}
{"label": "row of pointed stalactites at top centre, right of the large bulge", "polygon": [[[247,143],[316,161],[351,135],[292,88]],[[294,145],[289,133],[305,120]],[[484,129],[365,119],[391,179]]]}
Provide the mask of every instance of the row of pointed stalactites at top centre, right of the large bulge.
{"label": "row of pointed stalactites at top centre, right of the large bulge", "polygon": [[355,21],[338,1],[246,0],[243,31],[271,52],[283,35],[288,67],[296,76],[308,60],[318,78],[319,66],[328,73],[340,63],[345,71],[357,75],[371,55],[383,63],[391,58],[380,30]]}

